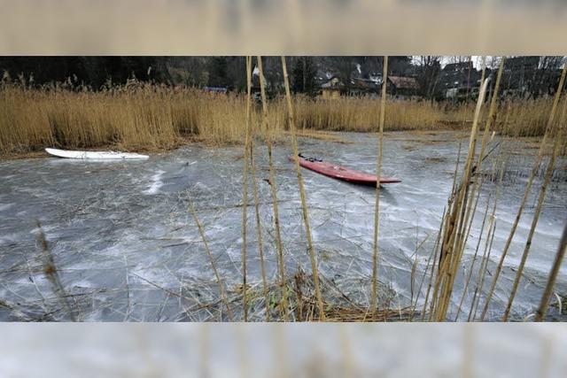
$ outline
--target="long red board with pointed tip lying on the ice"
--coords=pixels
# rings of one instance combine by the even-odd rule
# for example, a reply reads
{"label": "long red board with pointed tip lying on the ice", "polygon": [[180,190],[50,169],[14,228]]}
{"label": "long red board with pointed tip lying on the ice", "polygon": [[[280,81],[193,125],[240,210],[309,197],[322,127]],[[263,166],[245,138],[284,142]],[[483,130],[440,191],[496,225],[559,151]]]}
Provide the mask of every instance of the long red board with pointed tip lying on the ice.
{"label": "long red board with pointed tip lying on the ice", "polygon": [[[290,158],[293,161],[293,158]],[[332,177],[334,179],[353,182],[355,184],[363,185],[376,185],[376,175],[367,174],[361,171],[345,168],[344,166],[337,166],[332,163],[327,163],[315,158],[304,158],[299,156],[299,166],[303,166],[318,174]],[[401,182],[401,180],[393,177],[380,177],[381,184],[392,184]]]}

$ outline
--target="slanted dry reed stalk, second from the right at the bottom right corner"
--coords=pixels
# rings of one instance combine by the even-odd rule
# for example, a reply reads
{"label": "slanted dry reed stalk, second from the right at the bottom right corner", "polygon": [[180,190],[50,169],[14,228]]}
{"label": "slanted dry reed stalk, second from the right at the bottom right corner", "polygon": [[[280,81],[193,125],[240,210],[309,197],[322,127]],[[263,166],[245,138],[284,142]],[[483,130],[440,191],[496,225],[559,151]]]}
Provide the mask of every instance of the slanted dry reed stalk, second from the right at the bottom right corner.
{"label": "slanted dry reed stalk, second from the right at the bottom right corner", "polygon": [[[565,70],[567,70],[567,66],[565,66]],[[558,90],[561,91],[561,87]],[[541,185],[541,189],[540,189],[540,196],[538,197],[538,204],[536,205],[535,212],[533,214],[532,226],[530,228],[528,238],[525,242],[524,252],[522,253],[520,265],[517,267],[516,278],[514,279],[514,284],[512,285],[512,289],[510,291],[510,297],[508,300],[508,304],[506,305],[506,310],[504,311],[504,315],[502,316],[502,321],[507,321],[509,318],[509,313],[511,311],[512,304],[514,303],[514,298],[516,297],[517,287],[522,278],[522,273],[524,272],[525,262],[530,253],[530,248],[532,247],[533,234],[535,232],[535,228],[538,226],[538,220],[540,219],[541,209],[543,208],[543,201],[545,200],[549,182],[551,181],[551,176],[553,175],[553,170],[555,168],[555,160],[557,158],[557,155],[559,154],[561,143],[563,142],[563,135],[564,135],[563,131],[565,129],[565,127],[563,126],[563,121],[565,120],[566,109],[567,109],[567,100],[565,101],[565,106],[563,106],[561,120],[559,120],[559,125],[557,126],[559,129],[555,133],[552,132],[551,135],[552,139],[554,140],[553,152],[551,154],[551,157],[549,158],[548,167],[546,169],[543,184]]]}

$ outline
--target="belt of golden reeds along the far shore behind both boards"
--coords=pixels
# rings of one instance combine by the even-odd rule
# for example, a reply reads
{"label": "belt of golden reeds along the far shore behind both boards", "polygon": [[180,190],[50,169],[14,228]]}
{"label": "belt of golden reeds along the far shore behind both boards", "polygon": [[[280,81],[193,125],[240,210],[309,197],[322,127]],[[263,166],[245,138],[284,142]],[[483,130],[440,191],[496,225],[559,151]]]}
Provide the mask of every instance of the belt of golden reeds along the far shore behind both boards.
{"label": "belt of golden reeds along the far shore behind both boards", "polygon": [[[198,141],[213,145],[243,143],[246,96],[211,94],[199,89],[128,81],[101,91],[71,91],[60,86],[27,89],[0,86],[0,154],[25,154],[44,147],[166,150]],[[552,99],[506,100],[494,120],[497,132],[543,135]],[[472,104],[452,105],[388,99],[384,131],[469,128],[462,114]],[[329,131],[374,132],[378,128],[376,99],[335,100],[294,96],[296,127]],[[270,102],[271,139],[289,130],[284,97]],[[260,106],[251,113],[254,135],[267,132]]]}

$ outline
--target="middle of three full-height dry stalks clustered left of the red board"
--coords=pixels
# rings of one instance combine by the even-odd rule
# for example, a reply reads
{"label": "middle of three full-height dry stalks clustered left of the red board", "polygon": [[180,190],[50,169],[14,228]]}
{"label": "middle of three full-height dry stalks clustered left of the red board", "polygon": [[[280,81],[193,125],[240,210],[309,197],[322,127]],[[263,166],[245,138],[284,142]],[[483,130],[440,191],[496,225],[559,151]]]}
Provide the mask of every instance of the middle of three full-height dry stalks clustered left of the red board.
{"label": "middle of three full-height dry stalks clustered left of the red board", "polygon": [[277,189],[276,189],[276,169],[274,168],[274,158],[272,150],[272,130],[268,125],[268,96],[266,96],[266,84],[264,82],[264,70],[262,68],[262,58],[256,57],[258,71],[260,76],[260,96],[262,98],[262,123],[266,131],[266,144],[268,146],[268,165],[269,165],[269,187],[272,194],[272,203],[274,211],[274,224],[276,228],[276,250],[278,257],[278,267],[280,274],[280,285],[282,292],[282,312],[283,320],[290,319],[289,307],[287,302],[287,289],[285,285],[285,265],[283,259],[283,243],[282,233],[280,231],[280,216],[277,208]]}

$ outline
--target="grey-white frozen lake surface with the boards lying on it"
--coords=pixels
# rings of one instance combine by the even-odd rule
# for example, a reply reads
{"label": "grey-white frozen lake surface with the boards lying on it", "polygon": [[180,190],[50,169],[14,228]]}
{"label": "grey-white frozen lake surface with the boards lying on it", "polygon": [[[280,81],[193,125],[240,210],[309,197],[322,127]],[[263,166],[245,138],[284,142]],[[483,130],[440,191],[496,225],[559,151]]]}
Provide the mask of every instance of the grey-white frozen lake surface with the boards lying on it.
{"label": "grey-white frozen lake surface with the boards lying on it", "polygon": [[[300,150],[342,166],[374,172],[376,135],[351,133],[340,137],[349,143],[301,139]],[[385,135],[383,175],[396,176],[402,182],[384,186],[381,191],[378,274],[379,280],[396,292],[396,306],[409,305],[415,253],[418,263],[414,286],[421,282],[451,190],[459,141],[464,150],[467,138],[468,135],[456,132]],[[518,150],[522,143],[503,143],[498,152]],[[268,182],[263,180],[268,179],[267,154],[263,146],[257,152],[264,247],[268,276],[274,281],[274,221]],[[66,319],[43,274],[37,221],[42,225],[63,286],[73,295],[69,302],[79,320],[213,319],[211,312],[197,305],[213,302],[218,296],[188,204],[192,202],[197,209],[229,291],[237,290],[242,280],[242,154],[242,147],[214,149],[190,145],[152,155],[145,161],[35,158],[0,162],[0,320]],[[310,272],[297,176],[288,161],[290,154],[288,145],[275,147],[286,267],[290,273],[299,266]],[[491,159],[487,159],[485,169],[490,171],[491,165]],[[515,319],[530,314],[539,305],[542,286],[555,257],[567,213],[565,165],[565,160],[559,161],[548,189],[525,278],[514,302]],[[511,154],[508,166],[497,208],[485,289],[516,216],[532,157]],[[321,274],[347,295],[362,304],[368,303],[375,189],[307,170],[303,170],[303,176]],[[462,272],[455,282],[453,307],[461,298],[463,277],[469,273],[478,243],[485,200],[494,186],[493,181],[485,181],[482,187]],[[518,265],[524,249],[539,189],[540,177],[496,286],[488,312],[490,319],[499,319],[508,299],[515,276],[512,268]],[[252,203],[252,189],[249,193]],[[254,209],[248,209],[248,281],[258,289],[261,276]],[[484,243],[483,239],[479,254]],[[475,270],[479,258],[476,264]],[[566,275],[564,264],[555,285],[563,296],[567,293]],[[473,282],[475,279],[473,274]],[[424,283],[423,293],[425,289]],[[467,290],[461,320],[467,318],[473,289],[474,286]],[[480,305],[484,304],[483,298]],[[557,309],[550,308],[550,313],[556,316]],[[453,318],[454,308],[449,316]],[[252,318],[262,319],[261,315]]]}

